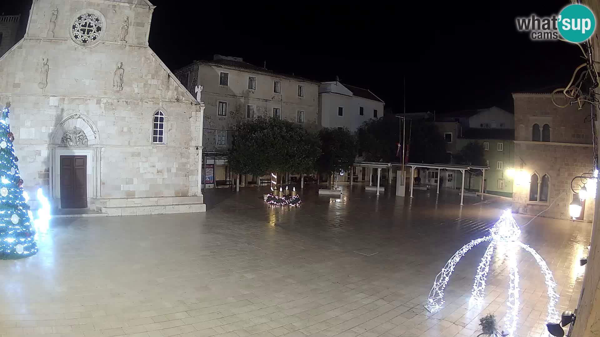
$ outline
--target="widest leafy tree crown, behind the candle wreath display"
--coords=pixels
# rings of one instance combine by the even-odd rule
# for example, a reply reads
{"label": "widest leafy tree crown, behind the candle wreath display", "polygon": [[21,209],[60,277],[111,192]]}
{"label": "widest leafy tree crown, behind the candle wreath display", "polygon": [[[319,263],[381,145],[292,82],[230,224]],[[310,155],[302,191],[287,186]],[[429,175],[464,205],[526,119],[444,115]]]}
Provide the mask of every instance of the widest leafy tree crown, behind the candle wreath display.
{"label": "widest leafy tree crown, behind the candle wreath display", "polygon": [[293,122],[259,116],[238,122],[228,160],[232,171],[256,177],[314,172],[319,154],[316,134]]}

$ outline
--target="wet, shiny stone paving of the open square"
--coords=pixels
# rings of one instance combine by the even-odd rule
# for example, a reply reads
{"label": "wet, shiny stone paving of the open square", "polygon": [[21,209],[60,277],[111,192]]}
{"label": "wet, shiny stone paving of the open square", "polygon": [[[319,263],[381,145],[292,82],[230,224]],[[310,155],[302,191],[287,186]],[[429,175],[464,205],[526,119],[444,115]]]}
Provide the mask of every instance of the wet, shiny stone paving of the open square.
{"label": "wet, shiny stone paving of the open square", "polygon": [[[0,335],[476,336],[488,312],[502,327],[501,255],[484,305],[468,306],[485,246],[458,264],[442,311],[423,304],[446,260],[509,201],[460,207],[455,192],[405,200],[361,186],[341,198],[313,190],[292,209],[266,206],[256,188],[220,189],[206,193],[206,213],[53,219],[37,255],[0,261]],[[578,302],[590,228],[547,218],[522,228],[554,272],[559,312]],[[525,252],[518,263],[518,336],[547,335],[544,278]]]}

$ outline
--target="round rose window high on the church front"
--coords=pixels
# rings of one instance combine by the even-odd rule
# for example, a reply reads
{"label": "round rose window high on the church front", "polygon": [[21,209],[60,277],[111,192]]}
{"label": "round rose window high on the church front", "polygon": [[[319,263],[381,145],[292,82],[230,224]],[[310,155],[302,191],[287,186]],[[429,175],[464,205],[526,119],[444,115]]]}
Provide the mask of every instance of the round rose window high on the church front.
{"label": "round rose window high on the church front", "polygon": [[90,8],[81,10],[71,20],[69,32],[78,46],[91,47],[98,44],[106,31],[106,19],[100,11]]}

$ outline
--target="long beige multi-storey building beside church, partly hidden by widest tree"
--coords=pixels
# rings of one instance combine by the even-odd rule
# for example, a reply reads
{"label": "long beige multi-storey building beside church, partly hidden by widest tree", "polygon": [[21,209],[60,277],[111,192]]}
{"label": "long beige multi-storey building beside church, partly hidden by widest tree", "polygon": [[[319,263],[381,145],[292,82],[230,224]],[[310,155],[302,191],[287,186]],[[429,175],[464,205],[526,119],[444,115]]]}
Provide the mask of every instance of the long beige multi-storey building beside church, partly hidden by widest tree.
{"label": "long beige multi-storey building beside church, partly hidden by widest tree", "polygon": [[[319,82],[221,55],[214,55],[210,61],[194,61],[175,74],[190,92],[202,86],[206,188],[229,185],[234,179],[226,159],[235,125],[242,119],[272,116],[310,130],[319,128]],[[257,179],[242,176],[241,185],[256,183]]]}

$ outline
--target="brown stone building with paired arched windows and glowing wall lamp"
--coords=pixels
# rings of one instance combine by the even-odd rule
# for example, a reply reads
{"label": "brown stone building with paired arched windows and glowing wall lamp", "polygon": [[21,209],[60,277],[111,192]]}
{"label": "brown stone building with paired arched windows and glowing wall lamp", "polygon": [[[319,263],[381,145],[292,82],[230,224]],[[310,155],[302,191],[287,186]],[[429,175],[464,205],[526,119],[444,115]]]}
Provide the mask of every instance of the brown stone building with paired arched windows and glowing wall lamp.
{"label": "brown stone building with paired arched windows and glowing wall lamp", "polygon": [[[551,94],[512,94],[515,109],[513,212],[569,219],[571,180],[592,173],[590,109],[554,106]],[[578,191],[578,186],[574,186]],[[587,198],[579,219],[592,221],[595,201]]]}

